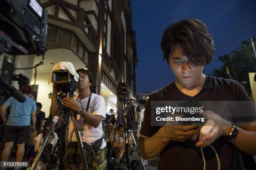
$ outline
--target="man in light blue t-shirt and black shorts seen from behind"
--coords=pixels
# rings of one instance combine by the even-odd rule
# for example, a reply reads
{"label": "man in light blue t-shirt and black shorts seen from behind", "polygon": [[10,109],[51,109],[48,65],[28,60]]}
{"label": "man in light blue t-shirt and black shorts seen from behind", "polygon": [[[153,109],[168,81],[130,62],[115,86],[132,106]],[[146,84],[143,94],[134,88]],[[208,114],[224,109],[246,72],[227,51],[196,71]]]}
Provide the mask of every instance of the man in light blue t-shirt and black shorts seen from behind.
{"label": "man in light blue t-shirt and black shorts seen from behind", "polygon": [[[24,85],[21,89],[21,94],[26,97],[26,102],[18,102],[15,98],[10,97],[0,107],[1,117],[5,122],[5,148],[2,152],[1,161],[7,161],[10,156],[10,150],[13,143],[17,142],[18,150],[16,154],[16,161],[21,161],[25,153],[25,143],[28,140],[29,129],[31,132],[35,131],[36,125],[36,102],[29,97],[31,94],[31,86]],[[5,110],[10,106],[10,115],[7,118]],[[32,115],[32,126],[30,126]]]}

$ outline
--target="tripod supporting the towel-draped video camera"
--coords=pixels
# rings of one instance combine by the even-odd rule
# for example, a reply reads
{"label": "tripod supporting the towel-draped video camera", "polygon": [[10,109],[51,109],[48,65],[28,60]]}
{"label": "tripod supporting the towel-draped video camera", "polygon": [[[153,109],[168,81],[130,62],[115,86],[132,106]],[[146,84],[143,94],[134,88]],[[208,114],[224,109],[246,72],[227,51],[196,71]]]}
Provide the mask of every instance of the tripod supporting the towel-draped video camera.
{"label": "tripod supporting the towel-draped video camera", "polygon": [[54,128],[56,127],[56,124],[59,121],[59,117],[61,115],[61,113],[63,112],[63,128],[61,130],[61,144],[60,144],[60,158],[59,158],[59,170],[65,170],[67,169],[67,132],[68,132],[68,123],[69,123],[69,115],[71,116],[71,120],[74,126],[74,132],[77,138],[77,144],[78,144],[78,148],[80,151],[80,155],[81,155],[81,160],[83,163],[83,167],[84,170],[89,170],[88,168],[88,164],[87,164],[87,160],[86,160],[86,156],[84,153],[84,147],[82,144],[82,140],[80,137],[80,133],[78,132],[78,124],[76,121],[76,114],[74,113],[74,111],[69,110],[67,107],[63,107],[62,105],[59,104],[58,106],[58,112],[57,115],[54,116],[54,119],[51,122],[50,128],[44,138],[43,144],[41,145],[38,153],[36,154],[36,157],[33,161],[33,164],[31,166],[31,170],[35,170],[36,169],[36,165],[39,162],[39,159],[41,158],[44,149],[46,148],[46,144],[48,142],[48,140],[50,139],[50,135],[53,133]]}

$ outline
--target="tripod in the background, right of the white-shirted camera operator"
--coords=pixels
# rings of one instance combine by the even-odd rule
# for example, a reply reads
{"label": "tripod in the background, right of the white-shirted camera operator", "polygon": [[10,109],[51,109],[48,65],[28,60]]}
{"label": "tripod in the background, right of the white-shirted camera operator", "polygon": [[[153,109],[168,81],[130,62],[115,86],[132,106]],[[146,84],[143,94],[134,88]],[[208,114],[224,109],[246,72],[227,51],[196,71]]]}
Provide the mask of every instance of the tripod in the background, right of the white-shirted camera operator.
{"label": "tripod in the background, right of the white-shirted camera operator", "polygon": [[[130,165],[129,165],[130,164],[130,161],[129,161],[130,160],[129,159],[130,155],[129,155],[128,151],[129,151],[129,136],[131,136],[132,140],[133,140],[133,143],[135,144],[135,147],[138,151],[138,156],[140,158],[142,169],[146,170],[145,166],[143,165],[143,160],[142,160],[142,158],[140,156],[140,153],[139,153],[139,150],[138,150],[137,126],[135,125],[136,122],[132,121],[132,120],[135,120],[135,119],[134,119],[133,114],[132,114],[132,110],[131,110],[132,108],[131,108],[130,103],[128,101],[129,100],[127,100],[126,97],[121,97],[120,99],[118,99],[118,102],[115,106],[116,109],[118,109],[118,111],[116,113],[118,115],[118,119],[116,120],[115,125],[113,126],[112,133],[109,137],[110,143],[111,143],[111,140],[113,139],[112,143],[111,143],[111,149],[110,149],[110,159],[111,159],[111,155],[113,153],[113,148],[114,148],[114,143],[115,143],[115,136],[116,136],[116,133],[118,131],[118,127],[120,127],[120,125],[122,125],[123,128],[124,128],[124,130],[123,130],[124,145],[121,147],[121,149],[118,153],[118,156],[115,160],[115,163],[120,162],[120,159],[122,158],[122,156],[125,153],[124,156],[126,157],[126,167],[127,167],[128,170],[130,169]],[[113,119],[114,116],[110,117],[110,122],[111,122],[111,120]],[[108,126],[105,130],[105,134],[108,131],[110,122],[108,123]],[[129,123],[130,123],[131,129],[128,129],[129,128],[128,127]]]}

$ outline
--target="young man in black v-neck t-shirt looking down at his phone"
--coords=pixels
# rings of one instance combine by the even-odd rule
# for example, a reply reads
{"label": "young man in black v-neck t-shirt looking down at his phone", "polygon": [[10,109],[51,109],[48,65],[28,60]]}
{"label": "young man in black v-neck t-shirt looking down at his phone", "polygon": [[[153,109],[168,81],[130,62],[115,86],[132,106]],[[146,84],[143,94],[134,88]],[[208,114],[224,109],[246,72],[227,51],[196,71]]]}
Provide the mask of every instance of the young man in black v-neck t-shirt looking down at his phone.
{"label": "young man in black v-neck t-shirt looking down at his phone", "polygon": [[[234,80],[204,75],[202,70],[215,51],[212,35],[199,20],[181,20],[166,28],[161,49],[175,75],[175,81],[153,92],[148,98],[138,148],[142,158],[160,154],[159,170],[202,170],[204,151],[206,169],[218,169],[215,148],[223,170],[241,169],[238,150],[256,154],[256,127],[233,126],[216,118],[213,130],[202,141],[191,142],[198,126],[151,126],[151,101],[247,101],[248,94]],[[203,112],[214,118],[215,113]],[[216,116],[215,116],[216,117]],[[236,133],[235,133],[236,132]]]}

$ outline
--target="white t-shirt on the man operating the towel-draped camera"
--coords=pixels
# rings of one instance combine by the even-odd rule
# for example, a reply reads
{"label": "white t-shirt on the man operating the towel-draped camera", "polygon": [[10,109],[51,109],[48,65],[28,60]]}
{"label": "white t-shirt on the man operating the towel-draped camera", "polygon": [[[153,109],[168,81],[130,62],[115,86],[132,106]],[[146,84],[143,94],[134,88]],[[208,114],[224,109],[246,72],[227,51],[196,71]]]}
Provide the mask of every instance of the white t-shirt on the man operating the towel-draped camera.
{"label": "white t-shirt on the man operating the towel-draped camera", "polygon": [[[77,99],[77,97],[78,96],[75,96],[74,99]],[[80,101],[82,101],[82,107],[84,108],[84,110],[86,110],[88,100],[89,96],[84,98],[83,100],[80,100],[79,98],[77,99],[79,103]],[[92,93],[91,101],[88,107],[88,113],[92,115],[102,115],[102,120],[106,119],[105,100],[102,96]],[[79,126],[79,133],[83,142],[91,144],[96,140],[100,139],[103,135],[101,121],[100,125],[97,128],[94,128],[89,123],[84,123],[84,118],[80,115],[77,115],[77,124]],[[69,141],[77,141],[71,119],[69,119]],[[100,149],[105,148],[106,145],[107,143],[103,139]]]}

